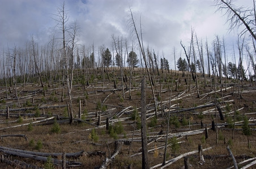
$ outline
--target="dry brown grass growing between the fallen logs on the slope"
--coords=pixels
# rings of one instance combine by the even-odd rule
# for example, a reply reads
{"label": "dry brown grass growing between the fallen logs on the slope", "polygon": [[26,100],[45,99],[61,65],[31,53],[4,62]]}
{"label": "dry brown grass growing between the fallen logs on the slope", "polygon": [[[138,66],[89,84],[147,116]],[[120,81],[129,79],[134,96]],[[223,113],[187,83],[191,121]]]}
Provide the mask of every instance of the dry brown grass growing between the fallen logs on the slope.
{"label": "dry brown grass growing between the fallen logs on the slope", "polygon": [[[167,74],[167,82],[164,82],[162,91],[167,90],[167,92],[164,92],[162,94],[162,101],[168,101],[170,96],[170,91],[168,88],[171,88],[172,83],[170,82],[170,79],[174,76],[173,74]],[[135,78],[136,77],[136,78]],[[121,100],[122,91],[105,91],[101,92],[102,90],[102,83],[101,80],[98,79],[97,83],[92,84],[94,87],[88,87],[86,90],[84,90],[84,86],[80,84],[74,85],[74,88],[72,89],[72,103],[74,108],[75,117],[78,117],[78,100],[82,100],[82,112],[86,110],[88,113],[84,115],[86,119],[89,119],[91,123],[97,122],[97,118],[95,118],[95,112],[99,112],[98,109],[96,109],[96,103],[97,101],[102,102],[106,96],[111,94],[108,99],[105,100],[104,105],[106,105],[107,109],[112,109],[111,112],[106,111],[106,113],[102,113],[103,115],[101,125],[105,124],[106,117],[114,117],[115,114],[118,112],[121,112],[122,109],[126,108],[127,106],[133,106],[134,108],[140,107],[140,77],[139,72],[138,75],[134,77],[133,81],[133,91],[131,92],[132,99],[129,100],[127,92],[125,94],[125,98]],[[174,79],[181,79],[179,91],[173,91],[173,97],[180,94],[182,91],[185,91],[186,85],[184,78],[181,77],[181,75],[176,75]],[[113,89],[113,82],[105,82],[104,83],[104,90],[110,90]],[[121,79],[119,79],[118,82],[119,87],[121,88]],[[127,85],[129,85],[129,82],[127,82]],[[194,85],[194,84],[193,84]],[[37,86],[35,84],[28,84],[25,86],[25,88],[22,85],[18,86],[18,91],[38,91],[42,90],[40,86]],[[27,100],[31,101],[32,103],[32,97],[35,99],[35,103],[33,103],[29,107],[35,107],[38,105],[44,105],[44,106],[53,106],[53,105],[59,105],[59,99],[62,96],[62,87],[59,89],[58,84],[55,84],[53,87],[48,87],[46,90],[46,95],[43,96],[42,92],[38,92],[36,94],[33,94],[33,92],[20,92],[20,103],[22,103],[23,107],[26,106],[25,103],[27,103]],[[160,91],[159,84],[156,85],[156,91]],[[2,88],[2,89],[1,89]],[[173,86],[175,89],[175,86]],[[138,89],[138,90],[135,90]],[[98,90],[97,92],[95,92]],[[246,92],[246,91],[253,91]],[[210,85],[207,86],[206,89],[200,86],[200,94],[203,96],[203,94],[206,94],[207,92],[212,91]],[[232,90],[224,91],[223,96],[231,95]],[[236,90],[237,91],[237,90]],[[194,105],[202,105],[208,101],[214,101],[214,94],[208,95],[204,97],[204,99],[200,100],[201,98],[197,98],[197,95],[194,93],[192,95],[189,95],[191,93],[195,92],[195,88],[193,90],[190,90],[190,92],[186,92],[183,96],[187,95],[181,100],[174,100],[172,101],[172,104],[178,104],[179,108],[191,108]],[[65,88],[66,93],[66,88]],[[0,87],[0,97],[5,97],[5,87]],[[88,94],[88,95],[87,95]],[[32,97],[29,97],[28,95],[33,95]],[[217,93],[218,96],[221,96],[221,93]],[[0,109],[5,109],[6,106],[10,106],[10,108],[18,108],[18,102],[17,100],[13,99],[13,93],[9,94],[10,99],[6,100],[6,103],[0,104]],[[151,89],[150,84],[147,84],[147,104],[153,103],[153,98],[151,96]],[[246,86],[242,89],[242,99],[241,104],[240,100],[238,98],[237,94],[234,94],[233,96],[227,97],[225,100],[232,100],[234,99],[236,102],[236,109],[244,107],[243,110],[241,110],[240,114],[244,113],[250,113],[254,112],[255,108],[253,105],[254,96],[256,96],[256,92],[251,89],[250,86]],[[23,99],[24,98],[24,99]],[[57,98],[57,100],[54,98]],[[67,96],[65,96],[65,100],[60,102],[61,105],[65,105],[67,101]],[[223,104],[224,105],[224,104]],[[152,106],[152,105],[151,105]],[[150,108],[151,106],[148,106]],[[165,108],[167,108],[168,104],[165,104]],[[159,105],[160,108],[160,105]],[[200,119],[198,118],[197,114],[203,112],[204,110],[208,110],[211,108],[204,108],[204,109],[198,109],[195,111],[190,112],[181,112],[181,113],[174,113],[172,115],[178,115],[178,119],[181,120],[183,117],[186,119],[190,119],[191,126],[190,130],[197,130],[200,128]],[[231,110],[234,109],[234,106],[231,106]],[[225,108],[223,108],[224,112]],[[63,117],[65,115],[65,108],[50,108],[50,109],[40,109],[40,114],[45,112],[45,114],[51,115],[59,115],[60,117]],[[29,110],[29,111],[19,111],[19,112],[11,112],[15,114],[25,114],[25,113],[35,113],[35,110]],[[94,113],[92,113],[94,112]],[[122,115],[122,117],[130,117],[130,113],[132,110],[130,110],[129,113],[125,113]],[[104,116],[105,115],[105,116]],[[249,117],[255,118],[255,114],[248,115]],[[24,119],[26,118],[33,118],[32,116],[29,117],[29,115],[23,116]],[[206,114],[204,115],[202,121],[204,124],[211,124],[212,118],[215,119],[214,113]],[[7,126],[15,126],[20,123],[18,122],[12,122],[15,121],[17,117],[11,117],[10,119],[6,120],[5,115],[2,115],[0,117],[0,128],[7,127]],[[225,118],[226,120],[226,118]],[[22,123],[29,123],[30,121],[23,121]],[[157,124],[155,127],[148,128],[148,135],[157,135],[157,132],[160,132],[163,130],[163,132],[167,129],[167,119],[165,116],[161,117],[159,115]],[[218,118],[218,123],[224,123],[225,121],[220,121],[220,118]],[[118,139],[125,139],[125,138],[131,138],[131,134],[133,133],[134,127],[133,127],[133,120],[127,119],[126,121],[121,122],[122,126],[125,130],[125,134],[117,134]],[[150,119],[148,119],[148,123],[150,123]],[[113,124],[114,126],[115,124]],[[74,124],[69,123],[61,123],[59,124],[61,128],[61,132],[59,134],[53,134],[51,132],[51,128],[53,127],[53,124],[47,124],[47,125],[33,125],[32,131],[28,131],[27,126],[23,127],[16,127],[16,128],[10,128],[6,130],[1,130],[1,135],[8,135],[8,134],[25,134],[28,137],[28,141],[25,141],[25,139],[20,137],[4,137],[1,146],[6,146],[9,148],[16,148],[16,149],[23,149],[23,150],[31,150],[36,152],[48,152],[48,153],[71,153],[71,152],[79,152],[81,150],[84,150],[85,152],[95,152],[95,151],[103,151],[106,152],[106,156],[108,157],[108,154],[112,154],[114,152],[114,141],[115,139],[108,134],[108,131],[105,130],[105,127],[103,128],[97,128],[96,134],[99,136],[99,141],[96,143],[93,143],[93,140],[91,139],[91,130],[86,131],[89,128],[92,128],[93,126],[85,123],[78,123],[74,122]],[[210,127],[210,126],[208,126]],[[170,132],[182,132],[182,131],[188,131],[189,126],[181,126],[179,128],[174,127],[173,124],[170,124]],[[241,126],[238,126],[237,128],[241,128]],[[251,126],[251,128],[255,128],[255,126]],[[220,129],[219,129],[220,131]],[[222,128],[221,132],[223,136],[225,137],[224,140],[218,140],[218,143],[216,144],[216,132],[209,130],[209,137],[208,139],[204,139],[204,132],[200,135],[193,135],[193,136],[187,136],[187,137],[181,137],[179,141],[185,141],[180,145],[180,149],[177,151],[177,154],[173,154],[172,150],[170,149],[170,146],[168,147],[167,152],[167,159],[171,159],[176,157],[179,154],[187,153],[193,150],[198,149],[198,144],[202,144],[203,148],[207,148],[212,146],[213,148],[211,150],[208,150],[204,152],[206,163],[204,163],[202,166],[198,163],[198,156],[197,154],[190,155],[189,156],[189,163],[191,164],[191,168],[227,168],[229,166],[232,166],[232,160],[228,155],[226,146],[227,144],[231,144],[231,150],[233,154],[236,156],[237,162],[242,161],[243,159],[247,159],[249,157],[255,157],[256,155],[256,133],[253,131],[253,135],[249,137],[251,149],[248,149],[247,144],[247,137],[242,134],[242,131],[236,130],[234,132],[234,139],[232,139],[232,130],[228,130],[227,128]],[[135,131],[134,137],[140,137],[140,131]],[[42,141],[42,149],[37,150],[35,148],[35,145],[29,145],[30,141],[34,140],[34,143],[36,144],[37,141]],[[156,146],[160,146],[164,144],[164,140],[156,141],[155,143],[152,143],[148,145],[148,149],[155,148]],[[117,155],[117,157],[114,159],[114,161],[111,164],[112,168],[141,168],[141,155],[137,155],[135,157],[130,157],[131,154],[135,154],[139,152],[141,143],[139,141],[134,141],[131,146],[130,154],[129,152],[129,145],[123,145],[120,154]],[[164,149],[159,149],[157,151],[157,154],[154,152],[148,153],[149,156],[149,162],[150,166],[154,166],[155,164],[163,162],[163,155]],[[16,159],[17,157],[11,157],[11,159]],[[24,161],[27,163],[32,163],[36,166],[43,166],[44,163],[42,162],[36,162],[31,159],[24,159],[24,158],[17,158],[20,159],[20,161]],[[61,157],[59,157],[61,159]],[[94,157],[87,157],[84,155],[83,157],[80,157],[78,159],[70,159],[82,162],[81,167],[76,168],[95,168],[96,166],[100,166],[101,163],[104,162],[104,155],[103,156],[94,156]],[[181,168],[184,166],[183,160],[179,160],[172,164],[171,168]],[[10,166],[6,166],[6,164],[0,163],[1,168],[8,168]],[[58,167],[57,167],[58,168]],[[59,167],[61,168],[61,167]]]}

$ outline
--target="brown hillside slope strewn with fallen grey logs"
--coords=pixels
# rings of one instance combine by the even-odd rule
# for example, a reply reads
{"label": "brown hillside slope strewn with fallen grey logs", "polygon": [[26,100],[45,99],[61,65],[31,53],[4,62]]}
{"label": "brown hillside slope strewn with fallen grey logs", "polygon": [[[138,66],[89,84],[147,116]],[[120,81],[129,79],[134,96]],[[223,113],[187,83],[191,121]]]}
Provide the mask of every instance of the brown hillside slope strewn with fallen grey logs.
{"label": "brown hillside slope strewn with fallen grey logs", "polygon": [[[44,79],[44,88],[40,85],[39,77],[31,77],[25,83],[18,82],[18,97],[15,96],[14,84],[11,86],[7,82],[7,86],[0,86],[1,168],[20,168],[26,164],[28,168],[47,168],[52,167],[51,158],[55,159],[54,168],[62,168],[64,152],[66,161],[70,161],[66,167],[99,168],[106,158],[114,154],[116,156],[109,168],[141,168],[140,107],[141,79],[146,74],[144,71],[135,69],[130,82],[129,69],[123,70],[123,81],[119,69],[110,68],[104,73],[100,69],[91,69],[89,72],[75,70],[71,91],[74,122],[71,124],[66,82],[61,77],[56,75],[49,86]],[[172,164],[169,163],[167,168],[184,167],[184,158],[176,157],[198,151],[199,145],[203,149],[209,148],[203,152],[205,162],[201,159],[199,163],[197,152],[189,154],[186,157],[190,168],[233,166],[227,146],[237,163],[255,157],[255,84],[246,81],[241,83],[235,79],[226,81],[225,78],[220,84],[215,77],[207,75],[203,78],[198,74],[198,97],[196,83],[187,73],[182,77],[181,72],[160,71],[158,75],[152,71],[151,75],[157,118],[150,81],[146,76],[150,167],[159,164],[156,168],[160,168],[164,161],[168,114],[167,164]],[[221,115],[224,119],[221,119]],[[249,119],[247,126],[250,127],[250,136],[246,136],[242,130],[244,117]],[[217,124],[217,128],[212,127],[212,122]],[[30,152],[17,154],[14,149]],[[31,152],[48,154],[28,157],[27,154]],[[20,157],[21,154],[27,156]],[[255,162],[255,158],[253,160]],[[238,166],[245,166],[251,161]]]}

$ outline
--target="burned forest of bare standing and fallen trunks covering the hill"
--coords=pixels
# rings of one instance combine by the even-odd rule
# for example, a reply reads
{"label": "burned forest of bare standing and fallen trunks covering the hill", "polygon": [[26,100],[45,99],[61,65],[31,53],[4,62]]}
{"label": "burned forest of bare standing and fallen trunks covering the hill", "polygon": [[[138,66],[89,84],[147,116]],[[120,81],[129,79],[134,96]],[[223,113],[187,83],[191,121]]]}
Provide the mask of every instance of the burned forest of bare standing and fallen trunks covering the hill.
{"label": "burned forest of bare standing and fallen trunks covering the hill", "polygon": [[232,2],[216,1],[245,26],[232,55],[191,28],[172,60],[145,47],[131,8],[132,41],[80,45],[63,3],[49,43],[1,54],[0,168],[255,168],[255,20]]}

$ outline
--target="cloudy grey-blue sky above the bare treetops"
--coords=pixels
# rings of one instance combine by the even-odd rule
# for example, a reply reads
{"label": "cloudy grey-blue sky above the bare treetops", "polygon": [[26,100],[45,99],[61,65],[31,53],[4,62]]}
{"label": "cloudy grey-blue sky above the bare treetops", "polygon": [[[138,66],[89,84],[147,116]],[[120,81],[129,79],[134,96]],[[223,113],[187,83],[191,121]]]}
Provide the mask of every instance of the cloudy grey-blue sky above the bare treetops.
{"label": "cloudy grey-blue sky above the bare treetops", "polygon": [[[251,0],[237,0],[237,6],[251,6]],[[66,0],[69,24],[80,28],[80,44],[112,47],[111,35],[131,42],[129,8],[139,26],[141,17],[144,45],[167,57],[172,65],[173,47],[180,53],[180,41],[189,46],[191,28],[209,42],[219,35],[229,45],[237,39],[228,32],[226,17],[215,12],[214,0]],[[62,0],[0,0],[0,48],[24,46],[31,39],[48,43],[57,24],[52,18]],[[59,30],[56,28],[55,32]],[[236,42],[234,42],[236,43]]]}

